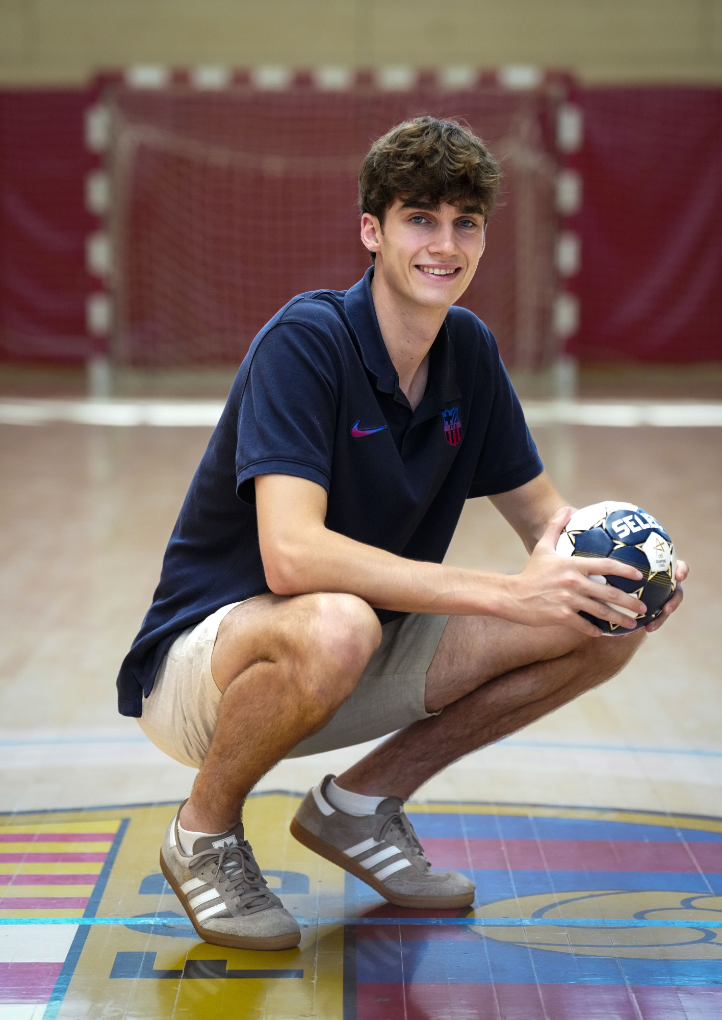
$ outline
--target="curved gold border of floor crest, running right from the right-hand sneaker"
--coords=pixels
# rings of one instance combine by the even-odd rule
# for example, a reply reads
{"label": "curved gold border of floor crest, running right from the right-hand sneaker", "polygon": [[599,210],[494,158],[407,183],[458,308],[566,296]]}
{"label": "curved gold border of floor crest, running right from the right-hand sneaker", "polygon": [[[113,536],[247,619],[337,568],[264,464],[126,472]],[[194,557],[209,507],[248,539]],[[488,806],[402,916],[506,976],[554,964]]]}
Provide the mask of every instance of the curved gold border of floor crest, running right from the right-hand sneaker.
{"label": "curved gold border of floor crest, running right from the right-hand sneaker", "polygon": [[591,821],[632,822],[637,825],[659,825],[665,828],[695,829],[702,832],[722,832],[722,820],[688,818],[685,815],[663,815],[640,811],[605,811],[598,808],[553,808],[537,805],[494,804],[407,804],[407,814],[430,815],[500,815],[516,818],[580,818]]}

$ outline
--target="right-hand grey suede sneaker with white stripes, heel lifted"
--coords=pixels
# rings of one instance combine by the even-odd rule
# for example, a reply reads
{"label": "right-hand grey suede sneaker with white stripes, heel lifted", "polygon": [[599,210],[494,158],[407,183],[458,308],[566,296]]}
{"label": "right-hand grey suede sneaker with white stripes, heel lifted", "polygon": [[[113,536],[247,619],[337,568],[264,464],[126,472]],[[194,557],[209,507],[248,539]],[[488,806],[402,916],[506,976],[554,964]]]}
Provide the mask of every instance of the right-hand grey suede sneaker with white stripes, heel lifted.
{"label": "right-hand grey suede sneaker with white stripes, heel lifted", "polygon": [[453,910],[469,907],[476,887],[458,871],[431,871],[404,802],[388,797],[374,815],[358,818],[325,798],[333,778],[310,789],[291,822],[304,847],[345,868],[397,907]]}

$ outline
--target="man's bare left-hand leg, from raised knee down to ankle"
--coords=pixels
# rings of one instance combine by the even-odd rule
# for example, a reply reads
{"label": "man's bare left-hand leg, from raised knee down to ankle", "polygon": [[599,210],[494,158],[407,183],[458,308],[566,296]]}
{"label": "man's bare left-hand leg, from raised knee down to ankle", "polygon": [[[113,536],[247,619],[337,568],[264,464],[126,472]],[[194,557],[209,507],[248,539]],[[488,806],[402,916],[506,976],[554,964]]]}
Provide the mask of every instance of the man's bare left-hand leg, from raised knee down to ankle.
{"label": "man's bare left-hand leg, from raised knee down to ankle", "polygon": [[381,628],[353,595],[262,596],[222,620],[211,669],[223,697],[181,824],[236,825],[260,777],[348,698]]}

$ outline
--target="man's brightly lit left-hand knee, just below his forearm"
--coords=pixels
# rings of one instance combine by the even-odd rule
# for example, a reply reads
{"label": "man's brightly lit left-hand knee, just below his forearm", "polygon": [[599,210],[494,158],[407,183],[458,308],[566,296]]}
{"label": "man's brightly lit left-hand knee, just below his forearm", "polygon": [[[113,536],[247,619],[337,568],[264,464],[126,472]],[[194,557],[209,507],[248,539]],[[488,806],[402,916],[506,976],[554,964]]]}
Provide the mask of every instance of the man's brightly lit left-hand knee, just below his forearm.
{"label": "man's brightly lit left-hand knee, just below his forearm", "polygon": [[378,648],[381,625],[371,607],[355,595],[306,598],[297,682],[300,695],[327,713],[356,686]]}

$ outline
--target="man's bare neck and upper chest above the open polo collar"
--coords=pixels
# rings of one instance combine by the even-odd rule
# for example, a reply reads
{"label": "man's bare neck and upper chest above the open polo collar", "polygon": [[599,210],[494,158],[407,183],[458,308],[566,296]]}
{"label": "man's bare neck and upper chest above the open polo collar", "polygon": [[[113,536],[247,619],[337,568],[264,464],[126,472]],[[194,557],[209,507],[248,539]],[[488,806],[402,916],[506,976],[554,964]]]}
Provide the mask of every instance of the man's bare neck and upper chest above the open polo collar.
{"label": "man's bare neck and upper chest above the open polo collar", "polygon": [[377,256],[371,280],[378,327],[399,374],[399,386],[416,408],[426,389],[428,352],[449,308],[427,308],[405,300],[389,286],[378,262]]}

